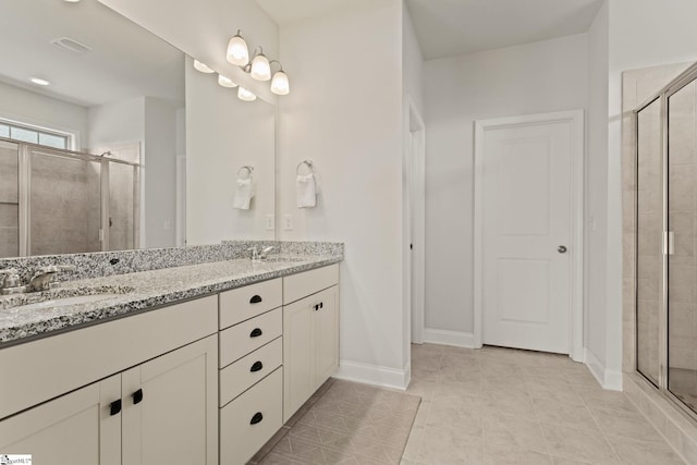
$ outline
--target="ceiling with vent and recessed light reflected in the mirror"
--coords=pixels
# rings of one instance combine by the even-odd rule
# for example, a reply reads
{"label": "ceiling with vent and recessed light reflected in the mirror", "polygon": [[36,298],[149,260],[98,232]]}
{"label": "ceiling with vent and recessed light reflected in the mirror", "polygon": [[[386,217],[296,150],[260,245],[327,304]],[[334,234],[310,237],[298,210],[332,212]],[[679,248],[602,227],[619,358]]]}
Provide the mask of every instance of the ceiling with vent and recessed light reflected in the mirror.
{"label": "ceiling with vent and recessed light reflected in the mirror", "polygon": [[[50,41],[70,37],[84,54]],[[0,81],[90,107],[148,96],[184,98],[184,54],[97,0],[0,1]],[[51,85],[37,86],[29,77]]]}

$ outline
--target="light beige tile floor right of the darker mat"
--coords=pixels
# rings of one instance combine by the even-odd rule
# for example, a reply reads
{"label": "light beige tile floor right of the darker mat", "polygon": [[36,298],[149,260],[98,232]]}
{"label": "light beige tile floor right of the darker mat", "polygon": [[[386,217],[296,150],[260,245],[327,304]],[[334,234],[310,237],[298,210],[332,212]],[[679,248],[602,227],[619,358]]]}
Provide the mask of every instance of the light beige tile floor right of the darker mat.
{"label": "light beige tile floor right of the darker mat", "polygon": [[421,396],[402,465],[684,464],[621,392],[568,357],[412,347]]}

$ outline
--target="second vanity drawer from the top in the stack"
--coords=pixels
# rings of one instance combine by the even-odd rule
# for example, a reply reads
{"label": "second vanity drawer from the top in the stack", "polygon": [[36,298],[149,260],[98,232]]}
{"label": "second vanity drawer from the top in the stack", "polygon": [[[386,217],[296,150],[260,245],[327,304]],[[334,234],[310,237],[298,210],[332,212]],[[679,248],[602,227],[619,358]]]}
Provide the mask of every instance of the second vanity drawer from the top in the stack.
{"label": "second vanity drawer from the top in the stack", "polygon": [[283,333],[283,309],[267,311],[220,332],[220,368],[268,344]]}

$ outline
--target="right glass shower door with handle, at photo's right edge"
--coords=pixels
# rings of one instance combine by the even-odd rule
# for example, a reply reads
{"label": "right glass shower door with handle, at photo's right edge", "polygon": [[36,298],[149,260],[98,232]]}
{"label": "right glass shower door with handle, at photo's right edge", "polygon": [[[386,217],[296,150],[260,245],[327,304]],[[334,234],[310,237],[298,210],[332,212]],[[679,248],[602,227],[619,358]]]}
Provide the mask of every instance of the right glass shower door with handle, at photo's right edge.
{"label": "right glass shower door with handle, at photo's right edge", "polygon": [[695,81],[668,99],[668,389],[697,411]]}

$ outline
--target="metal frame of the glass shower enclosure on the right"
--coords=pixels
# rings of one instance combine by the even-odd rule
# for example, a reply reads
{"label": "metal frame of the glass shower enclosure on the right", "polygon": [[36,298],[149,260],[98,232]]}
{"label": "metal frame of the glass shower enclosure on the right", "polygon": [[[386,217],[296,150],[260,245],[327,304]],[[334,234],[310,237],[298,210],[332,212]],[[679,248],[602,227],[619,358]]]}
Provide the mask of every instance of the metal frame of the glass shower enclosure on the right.
{"label": "metal frame of the glass shower enclosure on the right", "polygon": [[[634,124],[634,137],[635,137],[635,160],[636,160],[636,171],[635,171],[635,205],[634,205],[634,223],[636,224],[635,229],[635,241],[634,241],[634,257],[635,264],[638,261],[639,256],[639,224],[638,224],[638,215],[639,215],[639,118],[638,114],[641,110],[645,110],[656,100],[660,100],[661,111],[660,111],[660,137],[661,137],[661,208],[662,208],[662,236],[661,244],[663,254],[661,256],[662,270],[661,270],[661,285],[659,289],[660,294],[660,307],[659,307],[659,371],[658,371],[658,386],[651,381],[646,375],[639,371],[638,363],[639,363],[639,331],[638,325],[635,325],[635,341],[634,350],[635,350],[635,370],[639,374],[650,386],[655,387],[659,390],[660,393],[670,399],[673,403],[675,403],[682,411],[684,411],[687,415],[689,415],[693,419],[697,420],[697,412],[693,411],[685,402],[683,402],[678,396],[673,394],[669,390],[669,257],[672,255],[671,249],[673,246],[672,240],[672,231],[669,230],[669,99],[674,94],[677,94],[685,86],[689,85],[692,82],[697,81],[697,63],[689,66],[687,70],[682,72],[677,77],[671,81],[668,85],[665,85],[662,89],[651,95],[649,98],[644,100],[636,109],[633,111],[633,124]],[[635,268],[634,280],[635,280],[635,308],[634,308],[634,318],[635,321],[638,320],[638,267]]]}

